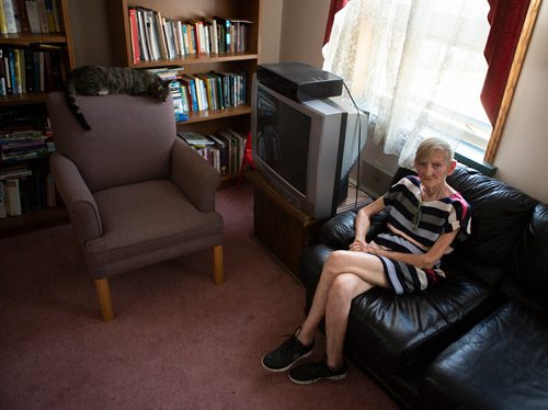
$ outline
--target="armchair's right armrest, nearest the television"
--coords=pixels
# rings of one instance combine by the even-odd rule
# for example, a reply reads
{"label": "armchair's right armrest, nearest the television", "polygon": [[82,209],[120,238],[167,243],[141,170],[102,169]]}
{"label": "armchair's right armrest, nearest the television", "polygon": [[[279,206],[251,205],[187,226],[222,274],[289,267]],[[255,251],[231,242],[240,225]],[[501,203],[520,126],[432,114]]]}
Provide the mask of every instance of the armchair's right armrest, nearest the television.
{"label": "armchair's right armrest, nearest the television", "polygon": [[220,174],[179,138],[171,149],[171,179],[196,208],[215,210],[215,192]]}

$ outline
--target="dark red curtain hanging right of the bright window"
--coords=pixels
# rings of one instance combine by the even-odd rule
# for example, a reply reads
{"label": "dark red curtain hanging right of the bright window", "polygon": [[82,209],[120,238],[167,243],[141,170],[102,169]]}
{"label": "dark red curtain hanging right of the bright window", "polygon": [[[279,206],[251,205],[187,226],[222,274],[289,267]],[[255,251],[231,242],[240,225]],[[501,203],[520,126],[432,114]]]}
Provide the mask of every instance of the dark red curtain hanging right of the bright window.
{"label": "dark red curtain hanging right of the bright window", "polygon": [[530,0],[488,1],[491,7],[488,15],[491,31],[484,48],[488,70],[481,90],[481,103],[494,126]]}

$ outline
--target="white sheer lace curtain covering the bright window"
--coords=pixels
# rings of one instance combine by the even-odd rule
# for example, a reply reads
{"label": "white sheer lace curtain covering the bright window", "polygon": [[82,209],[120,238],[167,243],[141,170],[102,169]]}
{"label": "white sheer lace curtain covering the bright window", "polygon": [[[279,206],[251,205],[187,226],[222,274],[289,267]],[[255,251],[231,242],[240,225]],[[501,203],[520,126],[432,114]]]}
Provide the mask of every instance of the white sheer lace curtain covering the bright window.
{"label": "white sheer lace curtain covering the bright window", "polygon": [[[475,121],[487,70],[488,1],[351,0],[335,14],[323,69],[372,114],[374,141],[412,168],[420,141],[456,147]],[[478,118],[480,117],[480,118]]]}

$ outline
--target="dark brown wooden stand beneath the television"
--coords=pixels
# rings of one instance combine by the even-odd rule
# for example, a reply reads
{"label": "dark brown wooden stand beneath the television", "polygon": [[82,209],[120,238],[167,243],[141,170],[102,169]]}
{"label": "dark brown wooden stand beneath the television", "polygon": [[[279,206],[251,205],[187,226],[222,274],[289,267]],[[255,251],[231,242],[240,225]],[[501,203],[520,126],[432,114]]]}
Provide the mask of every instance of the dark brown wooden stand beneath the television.
{"label": "dark brown wooden stand beneath the television", "polygon": [[246,179],[253,184],[253,238],[297,275],[300,255],[315,243],[321,221],[285,200],[259,171],[247,172]]}

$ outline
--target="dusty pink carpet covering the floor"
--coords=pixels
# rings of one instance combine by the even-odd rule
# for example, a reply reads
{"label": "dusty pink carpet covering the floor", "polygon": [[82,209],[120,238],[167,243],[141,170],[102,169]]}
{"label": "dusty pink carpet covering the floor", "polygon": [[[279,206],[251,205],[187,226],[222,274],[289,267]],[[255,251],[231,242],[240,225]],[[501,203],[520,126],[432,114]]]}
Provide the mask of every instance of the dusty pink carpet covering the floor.
{"label": "dusty pink carpet covering the floor", "polygon": [[218,192],[225,284],[209,252],[112,277],[110,323],[70,226],[0,240],[0,409],[397,408],[352,363],[312,386],[262,368],[305,289],[250,237],[252,207],[249,185]]}

